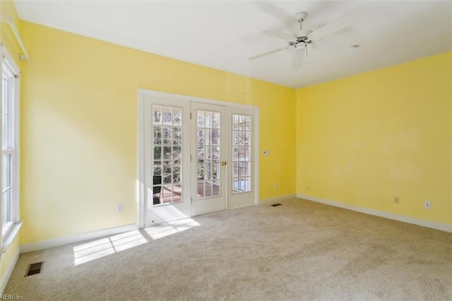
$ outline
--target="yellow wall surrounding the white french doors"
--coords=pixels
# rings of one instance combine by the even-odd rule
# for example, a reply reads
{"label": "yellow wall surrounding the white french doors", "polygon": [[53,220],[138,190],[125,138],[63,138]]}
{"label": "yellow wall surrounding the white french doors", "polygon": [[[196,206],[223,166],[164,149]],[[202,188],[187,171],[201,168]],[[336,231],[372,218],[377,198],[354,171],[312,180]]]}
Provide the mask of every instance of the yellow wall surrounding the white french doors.
{"label": "yellow wall surrounding the white french doors", "polygon": [[295,90],[21,26],[22,244],[137,222],[138,88],[260,107],[261,199],[295,193]]}

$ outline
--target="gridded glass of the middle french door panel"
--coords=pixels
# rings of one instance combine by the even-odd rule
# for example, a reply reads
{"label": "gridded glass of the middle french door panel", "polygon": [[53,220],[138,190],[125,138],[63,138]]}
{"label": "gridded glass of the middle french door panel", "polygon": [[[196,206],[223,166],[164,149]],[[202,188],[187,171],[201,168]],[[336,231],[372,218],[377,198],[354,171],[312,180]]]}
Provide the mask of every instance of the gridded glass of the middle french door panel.
{"label": "gridded glass of the middle french door panel", "polygon": [[221,195],[220,112],[196,110],[196,199]]}

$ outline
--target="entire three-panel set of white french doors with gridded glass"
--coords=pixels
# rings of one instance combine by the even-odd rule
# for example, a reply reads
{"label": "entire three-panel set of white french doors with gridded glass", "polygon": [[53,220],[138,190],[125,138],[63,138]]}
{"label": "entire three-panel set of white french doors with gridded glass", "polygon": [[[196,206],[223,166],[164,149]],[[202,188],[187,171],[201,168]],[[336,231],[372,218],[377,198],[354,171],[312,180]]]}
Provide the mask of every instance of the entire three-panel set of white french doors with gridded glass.
{"label": "entire three-panel set of white french doors with gridded glass", "polygon": [[139,100],[142,226],[256,203],[252,107],[157,92]]}

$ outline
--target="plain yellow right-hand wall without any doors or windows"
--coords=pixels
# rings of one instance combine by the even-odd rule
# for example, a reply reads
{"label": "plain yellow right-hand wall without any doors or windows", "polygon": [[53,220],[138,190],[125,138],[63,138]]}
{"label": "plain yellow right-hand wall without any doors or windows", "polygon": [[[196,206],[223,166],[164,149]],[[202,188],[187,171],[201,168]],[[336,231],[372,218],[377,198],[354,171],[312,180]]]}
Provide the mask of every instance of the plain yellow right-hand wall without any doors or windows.
{"label": "plain yellow right-hand wall without any doors or windows", "polygon": [[452,225],[451,58],[297,90],[297,194]]}

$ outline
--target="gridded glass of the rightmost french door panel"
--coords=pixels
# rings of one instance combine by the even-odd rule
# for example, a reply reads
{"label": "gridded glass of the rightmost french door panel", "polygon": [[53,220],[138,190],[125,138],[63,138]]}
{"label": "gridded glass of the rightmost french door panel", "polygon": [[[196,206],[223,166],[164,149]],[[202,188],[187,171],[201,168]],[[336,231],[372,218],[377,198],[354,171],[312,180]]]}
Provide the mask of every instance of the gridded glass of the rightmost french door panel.
{"label": "gridded glass of the rightmost french door panel", "polygon": [[251,116],[232,114],[232,194],[251,191]]}

